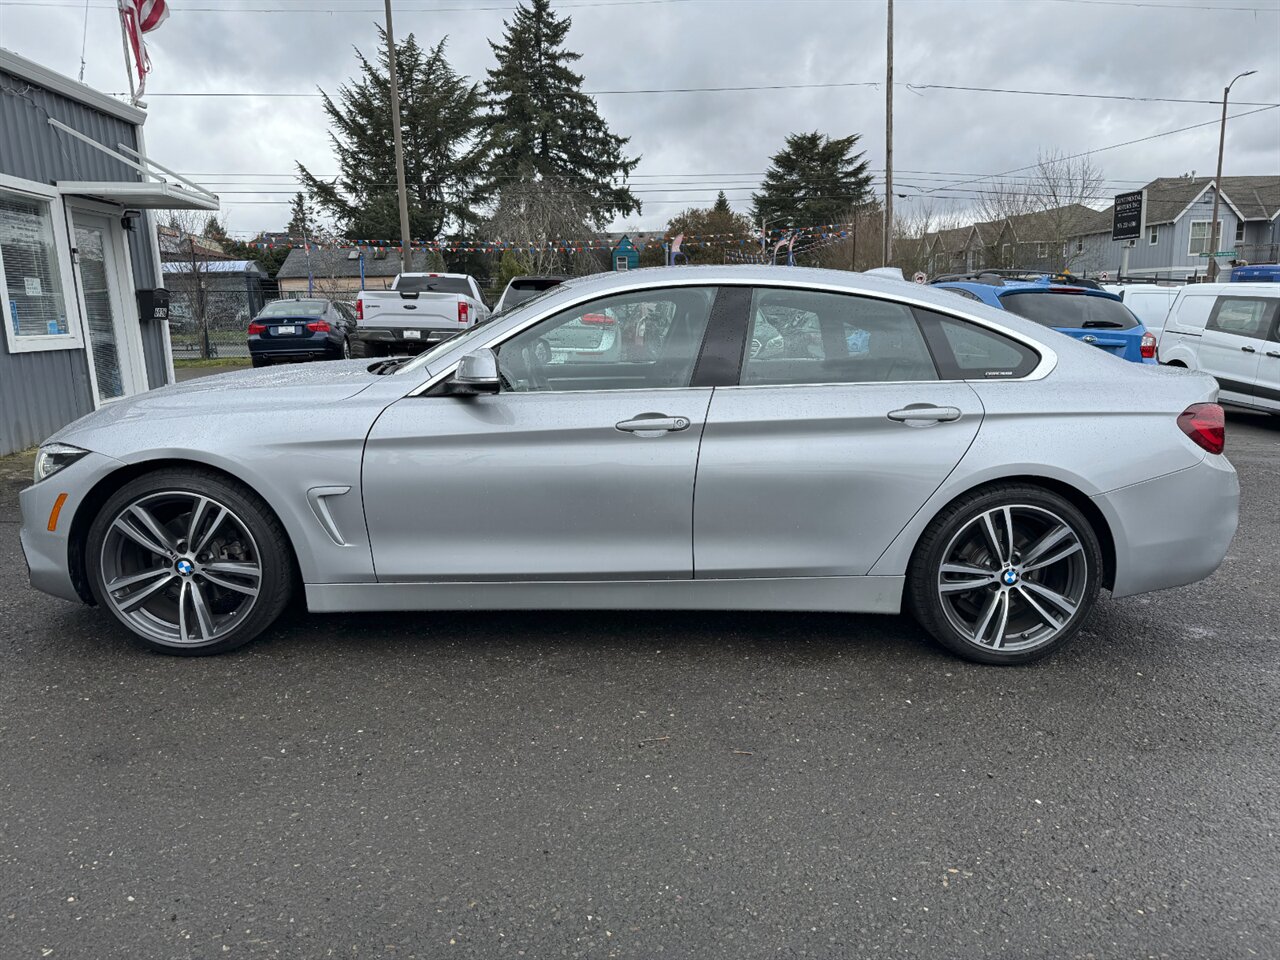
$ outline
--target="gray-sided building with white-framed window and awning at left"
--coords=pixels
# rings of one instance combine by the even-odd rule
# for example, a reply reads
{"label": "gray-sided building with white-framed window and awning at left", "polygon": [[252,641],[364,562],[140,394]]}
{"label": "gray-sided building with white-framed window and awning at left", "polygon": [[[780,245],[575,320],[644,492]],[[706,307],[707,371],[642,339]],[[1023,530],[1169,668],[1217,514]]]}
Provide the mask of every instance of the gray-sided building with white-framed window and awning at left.
{"label": "gray-sided building with white-framed window and awning at left", "polygon": [[0,454],[173,380],[152,211],[218,197],[147,157],[145,122],[0,49]]}

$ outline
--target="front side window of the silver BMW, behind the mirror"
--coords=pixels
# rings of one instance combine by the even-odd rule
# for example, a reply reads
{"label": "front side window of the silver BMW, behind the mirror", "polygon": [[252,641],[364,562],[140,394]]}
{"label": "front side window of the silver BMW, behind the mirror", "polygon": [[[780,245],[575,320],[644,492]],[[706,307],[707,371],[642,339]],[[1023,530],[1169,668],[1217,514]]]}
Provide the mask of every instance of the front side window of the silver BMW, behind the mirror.
{"label": "front side window of the silver BMW, behind the mirror", "polygon": [[714,301],[714,287],[669,287],[564,310],[498,347],[503,389],[689,387]]}

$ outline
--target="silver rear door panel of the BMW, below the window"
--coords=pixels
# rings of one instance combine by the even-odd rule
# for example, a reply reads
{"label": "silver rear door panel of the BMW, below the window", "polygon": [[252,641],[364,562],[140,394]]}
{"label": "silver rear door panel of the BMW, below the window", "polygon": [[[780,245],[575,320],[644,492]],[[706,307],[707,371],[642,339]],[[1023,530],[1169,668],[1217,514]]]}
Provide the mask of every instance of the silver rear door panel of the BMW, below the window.
{"label": "silver rear door panel of the BMW, below the window", "polygon": [[[911,404],[959,419],[890,419]],[[717,388],[698,460],[695,576],[867,573],[980,422],[978,396],[956,381]]]}

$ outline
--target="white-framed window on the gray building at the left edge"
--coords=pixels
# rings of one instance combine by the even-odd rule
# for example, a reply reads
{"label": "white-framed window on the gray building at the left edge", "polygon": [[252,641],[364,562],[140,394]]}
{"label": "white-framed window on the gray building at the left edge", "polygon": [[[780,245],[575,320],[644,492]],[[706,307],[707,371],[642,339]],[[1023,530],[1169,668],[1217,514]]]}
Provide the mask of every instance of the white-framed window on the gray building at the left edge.
{"label": "white-framed window on the gray building at the left edge", "polygon": [[15,349],[72,337],[49,200],[0,191],[0,276],[5,329]]}

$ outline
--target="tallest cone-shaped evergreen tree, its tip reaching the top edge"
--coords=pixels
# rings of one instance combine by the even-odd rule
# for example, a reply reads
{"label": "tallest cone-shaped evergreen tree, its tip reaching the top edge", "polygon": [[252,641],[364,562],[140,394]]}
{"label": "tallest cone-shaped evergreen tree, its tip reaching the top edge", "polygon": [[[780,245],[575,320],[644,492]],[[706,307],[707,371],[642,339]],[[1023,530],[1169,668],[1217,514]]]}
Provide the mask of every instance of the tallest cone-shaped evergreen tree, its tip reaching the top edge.
{"label": "tallest cone-shaped evergreen tree, its tip reaching the top edge", "polygon": [[550,0],[521,3],[503,24],[500,42],[489,41],[497,68],[485,83],[488,119],[488,191],[507,182],[543,180],[575,193],[591,220],[603,227],[614,216],[640,210],[626,179],[640,161],[627,157],[627,137],[618,137],[582,92],[580,59],[564,49],[572,18],[557,17]]}

